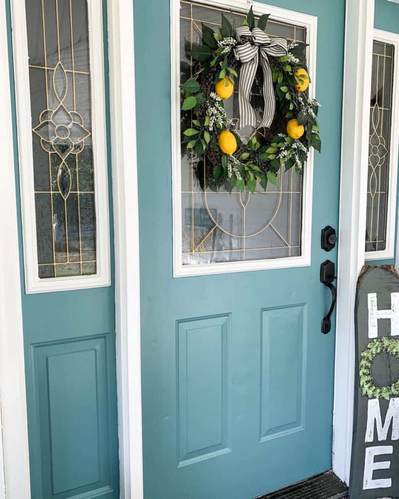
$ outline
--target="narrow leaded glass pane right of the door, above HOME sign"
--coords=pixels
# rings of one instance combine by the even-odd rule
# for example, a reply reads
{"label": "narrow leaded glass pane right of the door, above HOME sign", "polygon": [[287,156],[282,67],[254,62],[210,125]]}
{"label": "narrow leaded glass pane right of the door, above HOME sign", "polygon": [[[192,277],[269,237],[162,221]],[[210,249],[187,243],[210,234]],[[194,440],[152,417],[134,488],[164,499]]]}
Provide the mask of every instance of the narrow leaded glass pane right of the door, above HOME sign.
{"label": "narrow leaded glass pane right of the door, above HOME sign", "polygon": [[386,248],[394,46],[373,44],[366,251]]}

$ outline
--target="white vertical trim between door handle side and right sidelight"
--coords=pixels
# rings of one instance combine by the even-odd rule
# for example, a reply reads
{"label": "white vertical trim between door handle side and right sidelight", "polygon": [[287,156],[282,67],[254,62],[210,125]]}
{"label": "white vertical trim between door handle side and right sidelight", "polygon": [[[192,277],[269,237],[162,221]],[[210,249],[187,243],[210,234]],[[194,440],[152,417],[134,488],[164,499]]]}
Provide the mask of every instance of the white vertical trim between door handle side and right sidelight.
{"label": "white vertical trim between door handle side and right sidelight", "polygon": [[374,0],[346,2],[333,471],[349,484],[355,375],[355,295],[364,265]]}

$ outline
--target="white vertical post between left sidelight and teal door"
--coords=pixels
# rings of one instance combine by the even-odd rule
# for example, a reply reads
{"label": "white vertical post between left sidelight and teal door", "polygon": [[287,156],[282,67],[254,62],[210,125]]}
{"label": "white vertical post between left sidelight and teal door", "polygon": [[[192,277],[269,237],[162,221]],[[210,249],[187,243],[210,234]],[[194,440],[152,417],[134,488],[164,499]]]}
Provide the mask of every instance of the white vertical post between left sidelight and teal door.
{"label": "white vertical post between left sidelight and teal door", "polygon": [[122,499],[143,498],[139,211],[132,0],[108,0]]}

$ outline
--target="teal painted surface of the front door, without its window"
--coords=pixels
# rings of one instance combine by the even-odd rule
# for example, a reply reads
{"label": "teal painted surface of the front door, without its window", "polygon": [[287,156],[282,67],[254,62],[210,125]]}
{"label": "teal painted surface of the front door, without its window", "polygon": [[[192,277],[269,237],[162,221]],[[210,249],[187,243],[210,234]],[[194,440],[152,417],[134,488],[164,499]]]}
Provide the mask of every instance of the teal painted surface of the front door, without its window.
{"label": "teal painted surface of the front door, without its window", "polygon": [[338,223],[345,2],[273,4],[318,17],[311,265],[174,278],[170,4],[134,1],[145,499],[249,499],[331,469],[320,231]]}

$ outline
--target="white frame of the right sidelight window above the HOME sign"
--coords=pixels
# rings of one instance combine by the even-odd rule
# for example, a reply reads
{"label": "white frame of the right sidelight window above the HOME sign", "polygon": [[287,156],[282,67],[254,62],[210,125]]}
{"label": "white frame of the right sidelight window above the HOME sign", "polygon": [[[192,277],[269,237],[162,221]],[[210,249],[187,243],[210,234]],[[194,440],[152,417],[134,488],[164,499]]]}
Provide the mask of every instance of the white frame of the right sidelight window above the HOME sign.
{"label": "white frame of the right sidelight window above the HOME sign", "polygon": [[[388,177],[388,203],[387,203],[387,229],[386,248],[381,251],[366,251],[366,260],[382,260],[394,258],[396,214],[397,214],[397,190],[398,190],[398,151],[399,151],[399,34],[374,29],[374,40],[394,45],[394,74],[392,81],[392,118],[391,118],[391,140],[389,153],[389,177]],[[399,244],[399,239],[397,245]],[[397,252],[398,254],[398,252]],[[398,260],[398,256],[397,256]]]}

